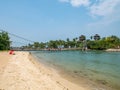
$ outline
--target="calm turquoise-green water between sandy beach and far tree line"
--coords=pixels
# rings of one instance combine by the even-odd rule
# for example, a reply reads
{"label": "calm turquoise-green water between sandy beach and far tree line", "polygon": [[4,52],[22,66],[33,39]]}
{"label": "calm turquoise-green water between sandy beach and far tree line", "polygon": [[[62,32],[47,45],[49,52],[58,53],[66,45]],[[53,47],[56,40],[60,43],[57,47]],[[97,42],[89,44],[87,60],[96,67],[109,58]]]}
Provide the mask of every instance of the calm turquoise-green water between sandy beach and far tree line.
{"label": "calm turquoise-green water between sandy beach and far tree line", "polygon": [[120,52],[34,51],[40,61],[79,81],[85,77],[101,85],[120,90]]}

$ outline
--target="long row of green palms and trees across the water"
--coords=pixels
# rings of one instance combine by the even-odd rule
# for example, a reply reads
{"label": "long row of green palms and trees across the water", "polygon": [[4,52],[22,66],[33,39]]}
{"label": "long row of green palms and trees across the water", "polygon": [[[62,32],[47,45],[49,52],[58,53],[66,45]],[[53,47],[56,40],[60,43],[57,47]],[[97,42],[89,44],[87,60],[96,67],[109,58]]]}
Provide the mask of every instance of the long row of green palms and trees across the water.
{"label": "long row of green palms and trees across the water", "polygon": [[85,35],[81,35],[78,38],[73,38],[72,40],[67,38],[66,40],[51,40],[47,43],[35,42],[34,44],[29,44],[26,47],[38,50],[45,48],[88,48],[92,50],[105,50],[109,48],[120,48],[120,38],[113,35],[101,38],[99,34],[95,34],[94,36],[91,36],[90,39],[86,39]]}

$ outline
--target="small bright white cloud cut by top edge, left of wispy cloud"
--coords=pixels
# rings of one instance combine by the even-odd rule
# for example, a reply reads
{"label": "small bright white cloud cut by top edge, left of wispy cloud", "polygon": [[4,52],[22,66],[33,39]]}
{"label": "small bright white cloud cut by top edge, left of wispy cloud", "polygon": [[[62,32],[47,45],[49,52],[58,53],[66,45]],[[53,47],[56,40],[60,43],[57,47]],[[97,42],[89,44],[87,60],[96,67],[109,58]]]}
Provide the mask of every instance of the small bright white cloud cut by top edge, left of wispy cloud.
{"label": "small bright white cloud cut by top edge, left of wispy cloud", "polygon": [[89,6],[90,2],[89,0],[59,0],[60,2],[68,2],[74,7],[79,6]]}

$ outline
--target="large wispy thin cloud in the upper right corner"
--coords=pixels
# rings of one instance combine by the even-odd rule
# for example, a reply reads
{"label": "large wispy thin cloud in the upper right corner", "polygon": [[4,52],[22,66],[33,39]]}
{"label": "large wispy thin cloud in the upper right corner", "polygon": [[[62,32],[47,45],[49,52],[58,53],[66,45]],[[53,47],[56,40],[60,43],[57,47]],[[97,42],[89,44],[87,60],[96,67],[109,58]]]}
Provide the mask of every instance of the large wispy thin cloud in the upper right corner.
{"label": "large wispy thin cloud in the upper right corner", "polygon": [[99,0],[99,3],[90,7],[91,16],[102,16],[95,22],[89,23],[90,27],[104,27],[120,21],[120,0]]}

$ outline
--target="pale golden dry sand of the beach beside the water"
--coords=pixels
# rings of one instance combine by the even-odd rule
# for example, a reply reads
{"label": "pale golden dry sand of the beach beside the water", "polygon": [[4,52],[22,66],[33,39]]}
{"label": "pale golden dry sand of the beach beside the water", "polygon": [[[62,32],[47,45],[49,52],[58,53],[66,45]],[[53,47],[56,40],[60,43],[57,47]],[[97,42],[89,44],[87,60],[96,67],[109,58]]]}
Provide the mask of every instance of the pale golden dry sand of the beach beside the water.
{"label": "pale golden dry sand of the beach beside the water", "polygon": [[0,90],[89,90],[60,77],[29,52],[0,52]]}

